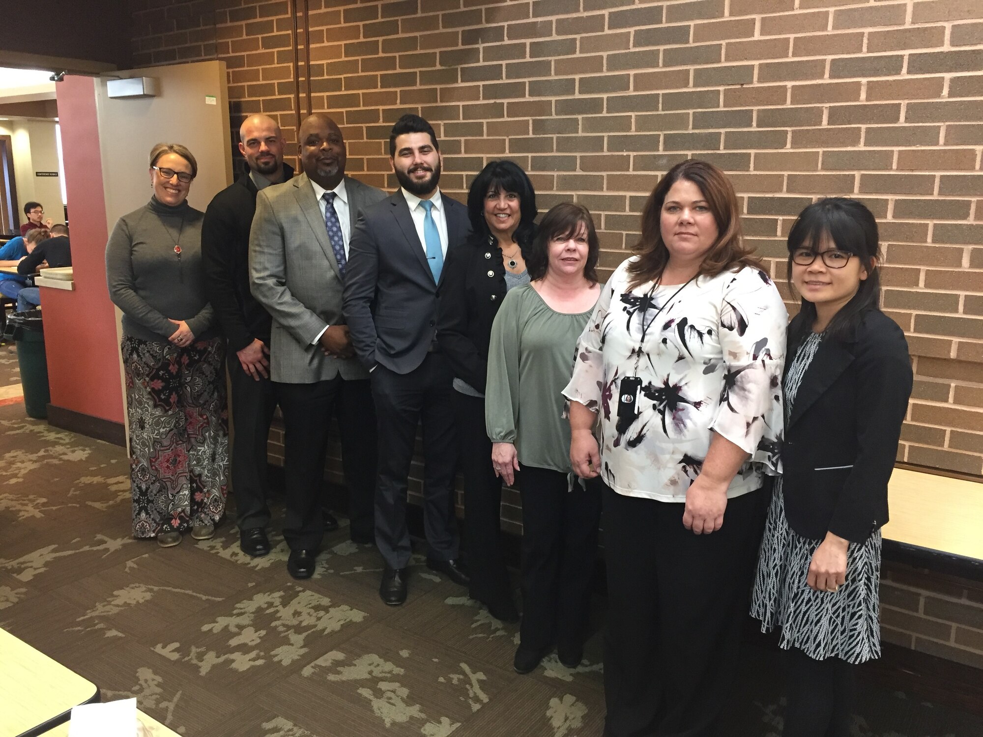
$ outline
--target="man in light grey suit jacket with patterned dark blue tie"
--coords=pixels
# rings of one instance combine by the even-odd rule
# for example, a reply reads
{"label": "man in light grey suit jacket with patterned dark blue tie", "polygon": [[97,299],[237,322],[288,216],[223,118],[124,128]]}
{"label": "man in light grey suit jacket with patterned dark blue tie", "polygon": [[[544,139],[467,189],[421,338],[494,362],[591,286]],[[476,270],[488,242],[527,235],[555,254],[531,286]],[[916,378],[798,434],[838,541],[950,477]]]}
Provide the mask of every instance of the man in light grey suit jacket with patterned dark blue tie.
{"label": "man in light grey suit jacket with patterned dark blue tie", "polygon": [[257,196],[249,265],[253,295],[273,318],[269,364],[285,433],[287,570],[306,579],[324,534],[319,499],[335,410],[352,539],[374,539],[376,415],[341,301],[352,226],[385,194],[345,176],[345,142],[326,115],[305,120],[298,139],[304,173]]}

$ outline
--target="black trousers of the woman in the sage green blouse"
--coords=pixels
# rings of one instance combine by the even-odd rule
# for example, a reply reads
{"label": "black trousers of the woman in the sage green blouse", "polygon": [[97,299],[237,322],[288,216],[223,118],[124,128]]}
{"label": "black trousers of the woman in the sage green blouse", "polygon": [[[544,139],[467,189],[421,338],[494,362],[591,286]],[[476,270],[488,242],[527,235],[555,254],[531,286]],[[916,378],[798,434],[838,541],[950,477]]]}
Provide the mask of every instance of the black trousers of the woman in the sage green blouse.
{"label": "black trousers of the woman in the sage green blouse", "polygon": [[520,463],[522,494],[522,624],[529,650],[579,648],[587,637],[598,552],[601,497],[567,475]]}

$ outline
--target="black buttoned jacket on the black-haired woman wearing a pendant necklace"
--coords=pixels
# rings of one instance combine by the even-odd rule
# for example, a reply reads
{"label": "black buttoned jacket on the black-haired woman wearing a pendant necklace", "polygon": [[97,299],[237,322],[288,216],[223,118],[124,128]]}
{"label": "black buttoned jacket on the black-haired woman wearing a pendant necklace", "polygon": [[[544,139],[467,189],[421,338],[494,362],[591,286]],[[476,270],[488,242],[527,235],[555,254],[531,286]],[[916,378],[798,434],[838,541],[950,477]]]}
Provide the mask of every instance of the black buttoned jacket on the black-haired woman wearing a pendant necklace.
{"label": "black buttoned jacket on the black-haired woman wearing a pendant necklace", "polygon": [[454,375],[480,392],[488,378],[492,322],[505,299],[505,264],[498,242],[468,241],[443,264],[436,339]]}

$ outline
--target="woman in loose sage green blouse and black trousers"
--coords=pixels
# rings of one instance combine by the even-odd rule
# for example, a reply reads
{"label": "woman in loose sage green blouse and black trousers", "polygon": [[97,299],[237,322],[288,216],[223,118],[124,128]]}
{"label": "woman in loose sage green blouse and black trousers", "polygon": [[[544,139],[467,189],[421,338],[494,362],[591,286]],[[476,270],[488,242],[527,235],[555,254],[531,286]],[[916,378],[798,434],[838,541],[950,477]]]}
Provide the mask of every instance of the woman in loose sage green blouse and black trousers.
{"label": "woman in loose sage green blouse and black trousers", "polygon": [[598,251],[590,211],[557,204],[526,256],[530,283],[508,292],[492,325],[485,387],[492,466],[510,485],[517,476],[522,494],[519,673],[534,670],[553,646],[560,662],[576,667],[587,634],[601,506],[596,492],[571,486],[561,391],[601,293]]}

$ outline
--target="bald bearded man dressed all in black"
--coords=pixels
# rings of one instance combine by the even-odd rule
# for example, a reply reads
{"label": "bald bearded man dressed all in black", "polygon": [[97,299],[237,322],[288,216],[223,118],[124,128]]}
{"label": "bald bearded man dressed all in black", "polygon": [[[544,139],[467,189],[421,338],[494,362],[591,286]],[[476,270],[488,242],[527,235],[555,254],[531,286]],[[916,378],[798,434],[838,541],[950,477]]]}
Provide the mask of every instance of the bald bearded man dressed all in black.
{"label": "bald bearded man dressed all in black", "polygon": [[247,118],[239,129],[239,150],[246,159],[242,175],[215,195],[202,224],[208,301],[228,341],[232,493],[240,545],[253,556],[269,552],[265,532],[269,524],[266,437],[277,399],[267,358],[272,318],[250,292],[249,234],[257,193],[294,175],[294,170],[283,163],[285,144],[272,118]]}

